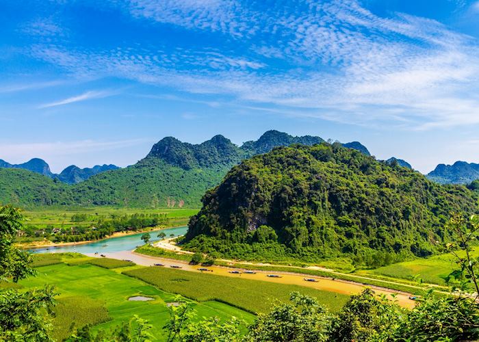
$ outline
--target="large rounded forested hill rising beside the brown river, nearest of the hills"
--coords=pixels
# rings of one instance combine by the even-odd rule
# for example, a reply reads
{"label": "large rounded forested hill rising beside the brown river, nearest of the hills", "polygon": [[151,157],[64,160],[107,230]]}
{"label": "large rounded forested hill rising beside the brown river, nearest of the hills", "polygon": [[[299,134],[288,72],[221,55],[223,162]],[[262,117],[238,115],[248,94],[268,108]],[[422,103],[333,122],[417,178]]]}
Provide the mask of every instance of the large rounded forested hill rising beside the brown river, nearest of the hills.
{"label": "large rounded forested hill rising beside the brown river, nearest of the hills", "polygon": [[424,257],[450,238],[451,211],[478,211],[476,197],[340,144],[275,148],[207,192],[185,246],[243,259]]}

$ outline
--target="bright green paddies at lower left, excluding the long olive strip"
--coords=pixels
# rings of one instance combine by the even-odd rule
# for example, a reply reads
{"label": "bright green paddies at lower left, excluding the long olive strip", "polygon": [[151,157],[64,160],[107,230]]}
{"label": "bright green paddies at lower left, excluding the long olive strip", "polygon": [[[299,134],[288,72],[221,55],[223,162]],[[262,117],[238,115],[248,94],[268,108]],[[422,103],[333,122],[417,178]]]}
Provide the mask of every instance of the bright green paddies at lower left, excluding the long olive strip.
{"label": "bright green paddies at lower left, excluding the long olive strip", "polygon": [[[68,336],[72,326],[98,324],[96,329],[112,328],[122,321],[129,321],[133,315],[138,315],[148,319],[153,324],[151,332],[155,338],[163,340],[162,327],[169,318],[166,303],[174,302],[174,294],[121,274],[121,269],[118,268],[57,263],[38,267],[37,270],[38,276],[22,280],[20,285],[31,288],[50,284],[60,293],[53,320],[56,339]],[[154,300],[129,301],[128,298],[134,295],[146,295]],[[197,313],[196,319],[216,316],[224,321],[233,315],[248,323],[254,319],[250,313],[220,302],[192,302],[192,306]]]}

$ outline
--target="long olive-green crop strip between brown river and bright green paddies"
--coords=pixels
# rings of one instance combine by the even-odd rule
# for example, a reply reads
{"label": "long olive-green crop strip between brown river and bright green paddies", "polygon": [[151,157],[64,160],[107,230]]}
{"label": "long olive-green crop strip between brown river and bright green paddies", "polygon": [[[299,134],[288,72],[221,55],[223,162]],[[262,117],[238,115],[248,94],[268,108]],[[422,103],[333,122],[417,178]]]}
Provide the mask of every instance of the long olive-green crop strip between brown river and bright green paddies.
{"label": "long olive-green crop strip between brown river and bright green paddies", "polygon": [[197,274],[163,267],[144,267],[123,273],[144,280],[164,291],[179,293],[198,302],[209,300],[224,302],[251,313],[268,312],[274,300],[287,301],[293,291],[312,295],[331,311],[338,311],[349,298],[348,295],[297,285]]}

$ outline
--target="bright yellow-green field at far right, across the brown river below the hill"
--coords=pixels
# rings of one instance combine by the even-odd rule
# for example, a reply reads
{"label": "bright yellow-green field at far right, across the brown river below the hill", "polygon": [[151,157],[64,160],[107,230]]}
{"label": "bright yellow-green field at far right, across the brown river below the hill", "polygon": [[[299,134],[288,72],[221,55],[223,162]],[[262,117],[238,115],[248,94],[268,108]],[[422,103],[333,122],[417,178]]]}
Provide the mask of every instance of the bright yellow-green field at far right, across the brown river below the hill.
{"label": "bright yellow-green field at far right, across the brown river below the hill", "polygon": [[[474,248],[471,254],[474,257],[479,257],[479,248]],[[456,267],[457,265],[452,254],[441,254],[427,259],[394,263],[362,273],[379,274],[390,278],[408,280],[420,278],[430,284],[445,285],[445,276],[448,276]]]}

